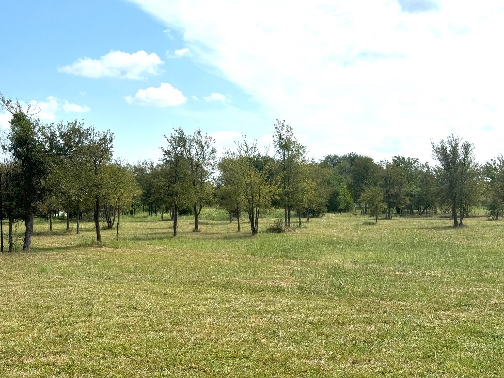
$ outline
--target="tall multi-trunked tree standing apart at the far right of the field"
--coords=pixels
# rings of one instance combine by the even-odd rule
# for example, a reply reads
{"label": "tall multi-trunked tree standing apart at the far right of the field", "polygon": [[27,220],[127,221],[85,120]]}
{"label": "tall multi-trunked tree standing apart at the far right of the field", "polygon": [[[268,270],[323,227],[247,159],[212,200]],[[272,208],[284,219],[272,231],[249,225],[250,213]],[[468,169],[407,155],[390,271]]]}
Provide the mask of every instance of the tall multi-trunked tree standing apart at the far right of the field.
{"label": "tall multi-trunked tree standing apart at the far right of the field", "polygon": [[430,145],[432,158],[438,163],[434,172],[439,194],[451,203],[453,226],[462,227],[464,215],[472,200],[471,194],[474,194],[475,181],[479,176],[473,155],[474,145],[454,134],[438,144],[431,140]]}

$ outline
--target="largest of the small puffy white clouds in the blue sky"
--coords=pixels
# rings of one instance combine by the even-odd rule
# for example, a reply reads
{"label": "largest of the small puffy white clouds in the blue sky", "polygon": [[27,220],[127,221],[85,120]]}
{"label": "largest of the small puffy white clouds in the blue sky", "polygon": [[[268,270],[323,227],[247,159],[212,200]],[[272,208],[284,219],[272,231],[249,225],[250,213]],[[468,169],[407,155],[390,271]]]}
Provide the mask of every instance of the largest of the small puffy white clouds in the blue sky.
{"label": "largest of the small puffy white clouds in the blue sky", "polygon": [[110,51],[99,59],[83,57],[64,67],[58,72],[83,76],[86,78],[121,78],[139,80],[146,75],[156,75],[164,61],[155,54],[141,50],[130,54],[122,51]]}

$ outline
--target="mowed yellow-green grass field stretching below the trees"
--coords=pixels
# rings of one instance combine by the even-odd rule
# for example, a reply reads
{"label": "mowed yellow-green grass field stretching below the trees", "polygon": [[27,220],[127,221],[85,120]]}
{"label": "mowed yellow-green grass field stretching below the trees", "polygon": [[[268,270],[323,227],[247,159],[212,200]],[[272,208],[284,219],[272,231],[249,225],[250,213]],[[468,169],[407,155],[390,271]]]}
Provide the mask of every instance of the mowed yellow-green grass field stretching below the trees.
{"label": "mowed yellow-green grass field stretching below the trees", "polygon": [[0,255],[0,376],[504,376],[504,222],[275,216],[38,220]]}

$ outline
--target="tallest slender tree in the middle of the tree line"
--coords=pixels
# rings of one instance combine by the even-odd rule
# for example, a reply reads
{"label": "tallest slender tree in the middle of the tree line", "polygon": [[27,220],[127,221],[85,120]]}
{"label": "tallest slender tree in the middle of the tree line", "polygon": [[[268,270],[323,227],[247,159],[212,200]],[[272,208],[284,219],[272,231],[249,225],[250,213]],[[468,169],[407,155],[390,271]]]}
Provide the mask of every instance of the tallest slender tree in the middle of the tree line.
{"label": "tallest slender tree in the middle of the tree line", "polygon": [[276,120],[273,145],[280,165],[278,174],[280,200],[284,205],[285,228],[290,227],[290,212],[295,192],[302,184],[302,167],[306,159],[306,147],[301,145],[290,124]]}

